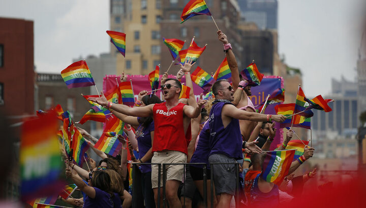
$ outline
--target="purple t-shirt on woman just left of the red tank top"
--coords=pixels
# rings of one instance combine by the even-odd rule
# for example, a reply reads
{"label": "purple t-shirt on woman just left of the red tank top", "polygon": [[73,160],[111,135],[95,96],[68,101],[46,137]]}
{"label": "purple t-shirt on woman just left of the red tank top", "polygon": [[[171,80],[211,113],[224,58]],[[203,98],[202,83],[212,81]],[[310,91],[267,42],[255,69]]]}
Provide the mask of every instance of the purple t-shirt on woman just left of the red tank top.
{"label": "purple t-shirt on woman just left of the red tank top", "polygon": [[[143,127],[142,123],[135,132],[135,138],[137,139],[137,145],[139,147],[139,158],[141,159],[147,151],[151,148],[151,132],[154,132],[154,121],[152,121],[146,128]],[[151,159],[143,162],[151,162]],[[141,164],[141,172],[151,172],[151,165]]]}

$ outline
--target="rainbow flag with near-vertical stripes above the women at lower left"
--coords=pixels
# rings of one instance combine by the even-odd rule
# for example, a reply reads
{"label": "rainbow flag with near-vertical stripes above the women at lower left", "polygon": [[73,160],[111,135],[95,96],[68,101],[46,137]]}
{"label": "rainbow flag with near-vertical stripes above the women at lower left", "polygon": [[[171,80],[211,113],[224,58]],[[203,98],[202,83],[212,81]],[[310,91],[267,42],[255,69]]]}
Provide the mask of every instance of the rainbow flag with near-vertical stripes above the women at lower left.
{"label": "rainbow flag with near-vertical stripes above the women at lower left", "polygon": [[82,164],[84,160],[84,153],[89,148],[89,145],[86,143],[84,137],[80,134],[79,130],[77,130],[74,125],[72,125],[72,133],[73,133],[73,141],[71,142],[71,148],[72,148],[72,156],[74,157],[74,160],[79,165]]}

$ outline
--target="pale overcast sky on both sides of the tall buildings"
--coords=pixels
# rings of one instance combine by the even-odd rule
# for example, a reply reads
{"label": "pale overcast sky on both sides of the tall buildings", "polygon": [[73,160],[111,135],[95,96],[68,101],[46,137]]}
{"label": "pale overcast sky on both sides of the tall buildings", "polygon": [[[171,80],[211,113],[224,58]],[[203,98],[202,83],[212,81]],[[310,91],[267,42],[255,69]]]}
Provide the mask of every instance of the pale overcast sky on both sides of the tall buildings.
{"label": "pale overcast sky on both sides of the tall buildings", "polygon": [[[362,0],[278,0],[279,53],[302,71],[304,93],[355,80]],[[1,0],[0,17],[34,21],[38,72],[59,73],[80,56],[109,52],[107,0]]]}

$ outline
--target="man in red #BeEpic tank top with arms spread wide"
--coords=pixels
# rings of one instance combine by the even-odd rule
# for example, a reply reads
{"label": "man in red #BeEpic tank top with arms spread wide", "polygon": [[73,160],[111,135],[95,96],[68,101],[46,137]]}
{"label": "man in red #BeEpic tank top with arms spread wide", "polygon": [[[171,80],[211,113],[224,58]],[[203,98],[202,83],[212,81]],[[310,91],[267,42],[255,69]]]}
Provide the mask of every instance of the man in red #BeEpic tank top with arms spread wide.
{"label": "man in red #BeEpic tank top with arms spread wide", "polygon": [[[196,107],[179,103],[181,84],[177,79],[166,79],[162,90],[165,99],[164,103],[138,108],[130,108],[127,105],[108,102],[103,93],[101,98],[89,98],[89,100],[125,115],[138,117],[153,116],[155,134],[153,142],[154,156],[151,162],[185,163],[187,162],[187,146],[191,140],[191,118],[196,118],[200,115],[201,107],[206,100],[202,100],[201,94]],[[158,165],[151,165],[151,184],[153,185],[156,204],[158,202],[159,186],[158,171]],[[163,171],[161,173],[163,175]],[[184,165],[167,165],[166,197],[170,207],[181,207],[177,191],[183,175]],[[163,186],[163,180],[161,180],[160,186]]]}

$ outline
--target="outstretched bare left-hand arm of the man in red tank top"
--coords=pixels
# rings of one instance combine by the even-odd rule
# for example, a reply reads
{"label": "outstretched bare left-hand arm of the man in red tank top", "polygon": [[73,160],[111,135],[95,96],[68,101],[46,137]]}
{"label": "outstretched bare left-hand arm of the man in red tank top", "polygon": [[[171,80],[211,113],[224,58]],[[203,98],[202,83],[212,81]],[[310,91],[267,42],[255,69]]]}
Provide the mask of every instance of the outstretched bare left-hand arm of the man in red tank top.
{"label": "outstretched bare left-hand arm of the man in red tank top", "polygon": [[138,117],[147,117],[147,116],[153,115],[154,104],[139,107],[139,108],[130,108],[127,105],[115,104],[115,103],[109,102],[105,98],[103,92],[102,92],[102,97],[100,97],[100,98],[88,98],[88,100],[96,102],[99,105],[102,105],[106,108],[109,108],[109,109],[115,110],[117,112],[123,113],[125,115],[138,116]]}

